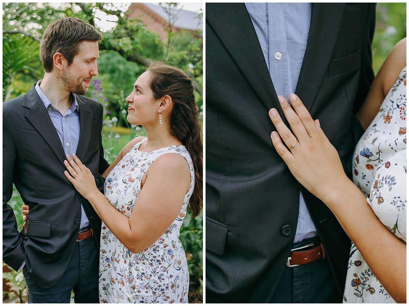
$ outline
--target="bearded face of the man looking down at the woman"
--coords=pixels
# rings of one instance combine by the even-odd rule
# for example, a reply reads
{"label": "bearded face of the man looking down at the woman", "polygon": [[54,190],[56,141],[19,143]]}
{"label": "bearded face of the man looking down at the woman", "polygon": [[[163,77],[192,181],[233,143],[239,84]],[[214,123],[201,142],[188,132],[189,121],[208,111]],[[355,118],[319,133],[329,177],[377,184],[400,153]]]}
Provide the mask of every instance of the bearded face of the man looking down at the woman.
{"label": "bearded face of the man looking down at the woman", "polygon": [[99,57],[98,42],[83,41],[79,53],[69,67],[61,74],[65,90],[83,95],[88,92],[92,76],[98,75],[97,58]]}

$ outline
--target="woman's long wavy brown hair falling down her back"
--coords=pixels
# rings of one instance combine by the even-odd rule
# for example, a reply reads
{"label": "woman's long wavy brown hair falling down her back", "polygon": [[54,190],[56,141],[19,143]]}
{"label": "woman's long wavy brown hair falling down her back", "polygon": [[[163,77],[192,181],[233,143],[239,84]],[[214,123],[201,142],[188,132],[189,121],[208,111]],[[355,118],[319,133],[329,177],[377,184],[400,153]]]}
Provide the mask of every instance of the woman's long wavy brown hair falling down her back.
{"label": "woman's long wavy brown hair falling down her back", "polygon": [[203,143],[192,80],[181,69],[160,62],[149,64],[146,71],[151,74],[153,98],[158,100],[166,95],[172,98],[171,132],[187,148],[195,171],[189,208],[196,217],[203,206]]}

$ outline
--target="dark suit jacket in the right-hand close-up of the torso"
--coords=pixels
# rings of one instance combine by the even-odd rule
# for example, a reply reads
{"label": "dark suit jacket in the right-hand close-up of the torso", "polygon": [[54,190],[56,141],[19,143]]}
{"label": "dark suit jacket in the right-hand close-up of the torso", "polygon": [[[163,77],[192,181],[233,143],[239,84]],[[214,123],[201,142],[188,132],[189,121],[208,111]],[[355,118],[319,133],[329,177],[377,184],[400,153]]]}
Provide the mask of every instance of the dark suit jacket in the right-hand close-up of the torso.
{"label": "dark suit jacket in the right-hand close-up of the torso", "polygon": [[[353,115],[373,80],[375,5],[313,3],[296,94],[351,174],[363,132]],[[342,301],[351,241],[274,149],[268,110],[284,118],[244,3],[206,5],[207,302],[269,302],[294,241],[303,194]],[[283,226],[290,235],[283,235]],[[287,232],[288,234],[288,232]]]}

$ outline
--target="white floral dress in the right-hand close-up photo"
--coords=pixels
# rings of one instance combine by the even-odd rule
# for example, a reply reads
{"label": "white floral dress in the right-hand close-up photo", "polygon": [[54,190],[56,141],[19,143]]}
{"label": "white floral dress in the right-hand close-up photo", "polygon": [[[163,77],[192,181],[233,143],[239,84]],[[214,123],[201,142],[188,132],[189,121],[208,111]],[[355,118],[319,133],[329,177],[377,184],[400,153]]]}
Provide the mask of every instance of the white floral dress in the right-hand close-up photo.
{"label": "white floral dress in the right-hand close-up photo", "polygon": [[[406,67],[354,156],[353,182],[384,226],[406,243]],[[362,230],[371,235],[371,229]],[[353,243],[349,257],[344,303],[396,303]]]}

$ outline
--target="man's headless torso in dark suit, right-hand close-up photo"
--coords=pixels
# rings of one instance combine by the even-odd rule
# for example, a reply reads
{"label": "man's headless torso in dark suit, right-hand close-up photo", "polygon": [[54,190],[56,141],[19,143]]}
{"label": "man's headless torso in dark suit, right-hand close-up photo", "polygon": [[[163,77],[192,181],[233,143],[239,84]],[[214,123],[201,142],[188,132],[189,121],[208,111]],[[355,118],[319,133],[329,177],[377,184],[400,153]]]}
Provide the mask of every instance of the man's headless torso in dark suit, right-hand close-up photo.
{"label": "man's headless torso in dark suit, right-hand close-up photo", "polygon": [[342,302],[351,241],[276,153],[268,111],[295,92],[351,175],[374,23],[366,3],[207,4],[206,302]]}

